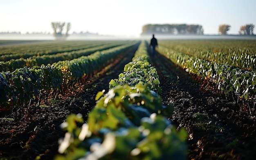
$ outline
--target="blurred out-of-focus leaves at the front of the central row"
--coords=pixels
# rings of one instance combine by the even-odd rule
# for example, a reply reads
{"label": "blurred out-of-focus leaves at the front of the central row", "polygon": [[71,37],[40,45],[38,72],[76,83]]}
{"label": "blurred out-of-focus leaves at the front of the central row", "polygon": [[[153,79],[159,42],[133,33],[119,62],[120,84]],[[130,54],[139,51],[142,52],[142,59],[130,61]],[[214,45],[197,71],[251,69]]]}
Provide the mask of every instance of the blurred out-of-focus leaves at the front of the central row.
{"label": "blurred out-of-focus leaves at the front of the central row", "polygon": [[[118,85],[97,101],[88,115],[88,124],[84,124],[82,129],[75,127],[74,115],[67,117],[65,128],[73,129],[68,130],[67,133],[73,134],[67,134],[67,137],[72,139],[65,136],[68,141],[63,141],[59,149],[65,154],[56,156],[55,160],[82,157],[106,160],[186,159],[186,130],[177,131],[166,117],[156,114],[159,110],[162,110],[160,96],[146,85]],[[61,148],[65,144],[68,145],[63,151]],[[79,151],[83,154],[72,156]]]}

